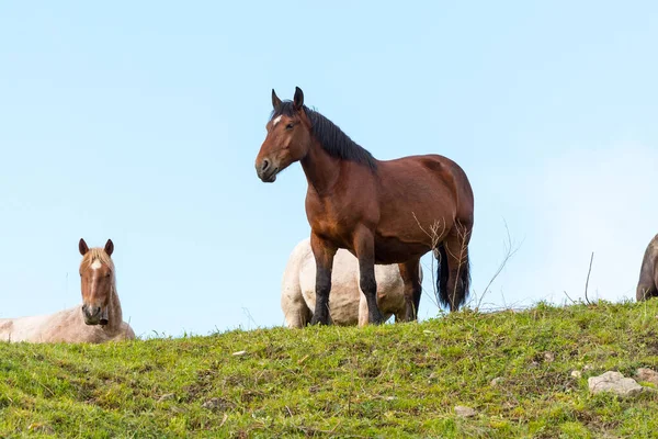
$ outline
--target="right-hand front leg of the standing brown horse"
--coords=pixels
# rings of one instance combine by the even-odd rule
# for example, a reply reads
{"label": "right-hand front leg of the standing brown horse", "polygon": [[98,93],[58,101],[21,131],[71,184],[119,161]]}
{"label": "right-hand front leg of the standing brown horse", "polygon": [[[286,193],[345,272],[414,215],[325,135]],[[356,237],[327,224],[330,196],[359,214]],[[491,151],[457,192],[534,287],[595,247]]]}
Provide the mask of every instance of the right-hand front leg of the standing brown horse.
{"label": "right-hand front leg of the standing brown horse", "polygon": [[359,258],[360,286],[367,303],[368,322],[375,325],[384,323],[384,316],[377,306],[377,281],[375,280],[375,237],[361,227],[354,235],[354,251]]}

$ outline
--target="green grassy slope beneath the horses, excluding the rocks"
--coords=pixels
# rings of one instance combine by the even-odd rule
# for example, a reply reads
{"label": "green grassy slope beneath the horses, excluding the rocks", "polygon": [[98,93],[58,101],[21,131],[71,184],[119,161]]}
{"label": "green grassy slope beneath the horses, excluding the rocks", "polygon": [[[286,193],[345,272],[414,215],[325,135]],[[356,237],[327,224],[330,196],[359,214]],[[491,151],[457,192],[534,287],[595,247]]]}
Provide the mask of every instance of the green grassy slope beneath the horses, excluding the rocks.
{"label": "green grassy slope beneath the horses, excluding the rocks", "polygon": [[592,396],[587,378],[658,369],[657,316],[658,301],[540,304],[362,329],[0,344],[0,437],[655,437],[656,394]]}

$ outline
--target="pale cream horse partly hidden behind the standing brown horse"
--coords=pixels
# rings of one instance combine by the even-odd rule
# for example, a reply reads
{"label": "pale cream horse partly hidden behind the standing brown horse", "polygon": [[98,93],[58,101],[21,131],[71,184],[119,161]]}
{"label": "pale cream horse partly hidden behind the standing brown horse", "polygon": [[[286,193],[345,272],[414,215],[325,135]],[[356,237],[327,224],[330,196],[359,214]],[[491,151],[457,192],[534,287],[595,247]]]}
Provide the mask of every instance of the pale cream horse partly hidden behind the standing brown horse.
{"label": "pale cream horse partly hidden behind the standing brown horse", "polygon": [[[422,268],[419,266],[422,282]],[[348,250],[339,249],[333,259],[329,315],[334,325],[367,325],[367,303],[359,288],[359,260]],[[395,322],[406,316],[405,284],[397,263],[375,266],[377,306],[384,319],[395,315]],[[288,328],[302,328],[315,309],[316,261],[310,239],[302,240],[288,258],[281,283],[281,309]]]}

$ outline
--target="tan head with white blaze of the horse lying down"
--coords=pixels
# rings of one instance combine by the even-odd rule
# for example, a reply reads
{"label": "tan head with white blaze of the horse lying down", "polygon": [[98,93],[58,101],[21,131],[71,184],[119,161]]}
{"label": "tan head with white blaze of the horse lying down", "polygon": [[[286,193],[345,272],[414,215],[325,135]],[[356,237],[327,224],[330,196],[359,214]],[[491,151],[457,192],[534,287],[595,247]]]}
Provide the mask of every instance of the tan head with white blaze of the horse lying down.
{"label": "tan head with white blaze of the horse lying down", "polygon": [[88,325],[107,325],[110,299],[114,289],[114,263],[111,256],[114,251],[112,239],[107,239],[105,248],[89,248],[84,239],[80,239],[80,280],[82,283],[82,316]]}

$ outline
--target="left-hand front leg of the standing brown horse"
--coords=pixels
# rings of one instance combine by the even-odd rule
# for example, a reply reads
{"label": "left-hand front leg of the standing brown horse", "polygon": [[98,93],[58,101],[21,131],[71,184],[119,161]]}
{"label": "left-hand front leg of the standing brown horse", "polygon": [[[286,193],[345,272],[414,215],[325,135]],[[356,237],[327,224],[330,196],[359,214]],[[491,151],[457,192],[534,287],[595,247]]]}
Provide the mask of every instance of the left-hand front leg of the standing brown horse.
{"label": "left-hand front leg of the standing brown horse", "polygon": [[310,324],[329,325],[331,270],[337,248],[314,233],[310,234],[310,248],[316,260],[316,307]]}

